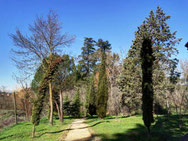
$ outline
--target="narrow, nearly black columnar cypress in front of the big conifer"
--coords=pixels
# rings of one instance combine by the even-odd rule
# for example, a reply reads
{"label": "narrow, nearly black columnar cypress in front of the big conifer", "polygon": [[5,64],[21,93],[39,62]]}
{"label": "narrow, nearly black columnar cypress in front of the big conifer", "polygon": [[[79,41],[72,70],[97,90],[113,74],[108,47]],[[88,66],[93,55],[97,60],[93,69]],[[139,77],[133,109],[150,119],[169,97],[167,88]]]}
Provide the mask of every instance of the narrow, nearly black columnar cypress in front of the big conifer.
{"label": "narrow, nearly black columnar cypress in front of the big conifer", "polygon": [[153,119],[153,50],[149,38],[144,39],[141,48],[141,66],[142,66],[142,109],[144,124],[150,134],[151,123]]}

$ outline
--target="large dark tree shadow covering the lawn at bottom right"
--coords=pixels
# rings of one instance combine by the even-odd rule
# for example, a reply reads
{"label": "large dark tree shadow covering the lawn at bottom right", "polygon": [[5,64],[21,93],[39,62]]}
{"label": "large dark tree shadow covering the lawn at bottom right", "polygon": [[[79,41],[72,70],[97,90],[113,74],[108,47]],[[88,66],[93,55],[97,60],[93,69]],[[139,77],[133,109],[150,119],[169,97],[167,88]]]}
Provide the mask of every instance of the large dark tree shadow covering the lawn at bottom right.
{"label": "large dark tree shadow covering the lawn at bottom right", "polygon": [[116,133],[112,136],[97,134],[96,136],[100,137],[102,141],[178,141],[188,133],[188,126],[186,126],[188,116],[185,115],[182,119],[184,125],[179,128],[181,119],[178,116],[158,117],[152,126],[150,138],[142,124],[137,124],[135,128],[129,129],[125,133]]}

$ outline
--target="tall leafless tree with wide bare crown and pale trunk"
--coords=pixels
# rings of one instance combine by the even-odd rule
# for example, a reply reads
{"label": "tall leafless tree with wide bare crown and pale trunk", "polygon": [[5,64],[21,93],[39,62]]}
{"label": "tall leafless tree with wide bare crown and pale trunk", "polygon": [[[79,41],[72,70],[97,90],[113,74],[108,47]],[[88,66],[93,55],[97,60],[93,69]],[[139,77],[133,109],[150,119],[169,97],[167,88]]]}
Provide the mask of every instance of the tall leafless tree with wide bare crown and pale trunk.
{"label": "tall leafless tree with wide bare crown and pale trunk", "polygon": [[[50,11],[47,18],[37,17],[33,25],[29,25],[30,36],[23,35],[17,29],[15,34],[11,34],[16,49],[12,49],[12,60],[17,68],[25,72],[26,76],[33,74],[40,64],[51,64],[49,56],[52,54],[63,54],[63,48],[69,46],[74,36],[69,36],[67,33],[61,33],[61,23],[58,20],[58,15],[54,11]],[[46,71],[48,67],[43,65]],[[51,82],[49,82],[51,86]],[[49,87],[50,94],[50,124],[53,125],[53,99],[52,89]]]}

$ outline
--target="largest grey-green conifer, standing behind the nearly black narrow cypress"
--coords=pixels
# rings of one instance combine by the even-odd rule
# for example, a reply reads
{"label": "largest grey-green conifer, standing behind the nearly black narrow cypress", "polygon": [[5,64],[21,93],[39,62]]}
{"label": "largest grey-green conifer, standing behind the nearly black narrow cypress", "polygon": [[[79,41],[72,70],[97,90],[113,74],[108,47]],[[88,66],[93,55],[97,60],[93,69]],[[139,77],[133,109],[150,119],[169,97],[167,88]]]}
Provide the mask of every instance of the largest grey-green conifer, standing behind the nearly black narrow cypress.
{"label": "largest grey-green conifer, standing behind the nearly black narrow cypress", "polygon": [[[160,7],[157,7],[156,12],[150,12],[149,17],[144,20],[143,24],[138,27],[135,32],[135,39],[128,51],[128,56],[124,60],[124,70],[121,74],[119,86],[123,92],[123,102],[129,105],[132,109],[134,103],[141,107],[141,59],[140,50],[145,34],[151,36],[153,55],[155,57],[153,66],[153,86],[155,97],[163,94],[162,89],[165,80],[165,71],[169,70],[169,62],[172,55],[176,55],[178,50],[176,44],[181,39],[176,38],[176,32],[171,32],[167,21],[170,16],[167,16]],[[140,100],[139,100],[140,99]],[[131,109],[131,110],[132,110]]]}

